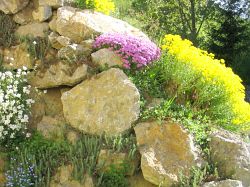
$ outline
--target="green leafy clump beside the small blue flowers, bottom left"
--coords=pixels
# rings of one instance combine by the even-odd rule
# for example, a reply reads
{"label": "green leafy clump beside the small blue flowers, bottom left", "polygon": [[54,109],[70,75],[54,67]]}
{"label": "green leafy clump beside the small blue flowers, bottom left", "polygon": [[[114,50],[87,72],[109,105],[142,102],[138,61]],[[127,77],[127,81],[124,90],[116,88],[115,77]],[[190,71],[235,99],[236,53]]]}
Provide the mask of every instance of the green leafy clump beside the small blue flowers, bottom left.
{"label": "green leafy clump beside the small blue flowers, bottom left", "polygon": [[[35,170],[34,186],[49,186],[53,172],[67,161],[69,147],[66,142],[54,142],[35,134],[32,139],[21,143],[17,150],[9,153],[16,164],[32,164]],[[30,162],[27,162],[30,161]],[[25,166],[25,167],[29,167]],[[10,173],[13,167],[9,168]],[[15,169],[15,168],[14,168]]]}

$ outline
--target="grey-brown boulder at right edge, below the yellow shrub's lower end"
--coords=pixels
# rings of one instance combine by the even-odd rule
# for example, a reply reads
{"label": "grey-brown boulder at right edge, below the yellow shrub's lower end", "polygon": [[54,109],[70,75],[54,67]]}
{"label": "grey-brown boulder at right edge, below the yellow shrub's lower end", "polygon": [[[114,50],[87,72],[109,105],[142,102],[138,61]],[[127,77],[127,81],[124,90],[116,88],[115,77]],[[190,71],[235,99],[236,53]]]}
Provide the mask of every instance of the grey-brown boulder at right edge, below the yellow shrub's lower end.
{"label": "grey-brown boulder at right edge, below the yellow shrub's lower end", "polygon": [[250,186],[250,144],[226,130],[216,130],[210,135],[211,159],[223,178],[242,181]]}

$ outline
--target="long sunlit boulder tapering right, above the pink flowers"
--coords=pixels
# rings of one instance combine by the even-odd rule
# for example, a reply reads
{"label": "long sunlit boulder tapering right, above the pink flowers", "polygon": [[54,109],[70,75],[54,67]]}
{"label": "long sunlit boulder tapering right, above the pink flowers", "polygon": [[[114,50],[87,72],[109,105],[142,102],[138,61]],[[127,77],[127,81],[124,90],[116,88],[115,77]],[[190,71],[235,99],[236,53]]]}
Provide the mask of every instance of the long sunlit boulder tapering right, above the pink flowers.
{"label": "long sunlit boulder tapering right, above the pink flowers", "polygon": [[119,19],[91,10],[61,7],[57,11],[56,30],[76,43],[110,32],[135,35],[148,39],[139,29]]}

